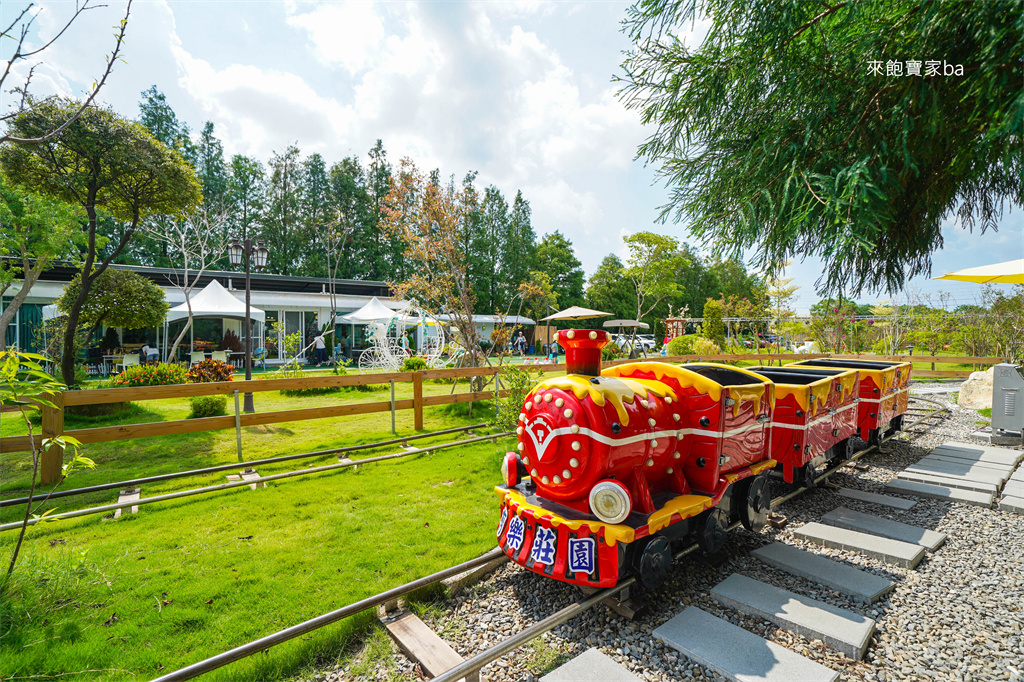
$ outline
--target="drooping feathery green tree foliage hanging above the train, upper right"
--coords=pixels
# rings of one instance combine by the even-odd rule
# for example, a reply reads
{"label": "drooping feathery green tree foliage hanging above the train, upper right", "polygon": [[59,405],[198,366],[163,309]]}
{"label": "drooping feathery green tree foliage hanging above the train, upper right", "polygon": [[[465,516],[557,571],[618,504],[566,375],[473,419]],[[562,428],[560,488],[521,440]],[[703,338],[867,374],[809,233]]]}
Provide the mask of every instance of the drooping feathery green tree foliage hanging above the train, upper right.
{"label": "drooping feathery green tree foliage hanging above the train, upper right", "polygon": [[948,216],[1024,205],[1021,0],[643,0],[625,30],[663,217],[759,269],[814,255],[819,291],[897,291]]}

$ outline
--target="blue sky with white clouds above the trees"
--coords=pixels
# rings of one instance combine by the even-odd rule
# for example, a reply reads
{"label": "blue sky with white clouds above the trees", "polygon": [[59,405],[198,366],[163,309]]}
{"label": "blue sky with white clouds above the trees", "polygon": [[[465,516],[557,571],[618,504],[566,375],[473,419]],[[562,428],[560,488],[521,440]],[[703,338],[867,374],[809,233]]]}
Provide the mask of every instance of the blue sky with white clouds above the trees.
{"label": "blue sky with white clouds above the trees", "polygon": [[[121,0],[87,13],[44,55],[36,92],[80,95],[102,70]],[[43,2],[45,32],[68,1]],[[227,154],[267,160],[290,143],[328,163],[365,155],[377,138],[393,163],[410,156],[457,178],[479,172],[510,200],[522,189],[540,235],[561,230],[588,274],[622,237],[655,223],[666,201],[655,173],[634,160],[649,134],[615,96],[629,41],[628,3],[291,2],[136,0],[126,63],[101,98],[137,115],[157,85],[194,130],[212,121]],[[13,11],[0,5],[0,18]],[[699,27],[694,28],[699,34]],[[7,97],[9,95],[2,95]],[[950,218],[933,276],[1024,257],[1024,213],[998,232],[967,232]],[[798,311],[816,300],[818,261],[796,262]],[[916,278],[908,290],[968,303],[977,285]],[[885,295],[865,295],[872,302]]]}

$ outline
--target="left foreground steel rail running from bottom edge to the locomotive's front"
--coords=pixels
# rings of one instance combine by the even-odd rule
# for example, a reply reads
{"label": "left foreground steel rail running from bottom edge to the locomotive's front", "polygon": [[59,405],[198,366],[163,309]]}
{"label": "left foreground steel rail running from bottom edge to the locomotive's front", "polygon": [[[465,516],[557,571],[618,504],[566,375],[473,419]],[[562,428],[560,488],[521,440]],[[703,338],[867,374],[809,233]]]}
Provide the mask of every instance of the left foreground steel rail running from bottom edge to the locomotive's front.
{"label": "left foreground steel rail running from bottom edge to the locomotive's front", "polygon": [[439,583],[446,578],[458,576],[465,570],[481,566],[488,561],[494,561],[495,559],[499,559],[503,556],[505,556],[505,552],[503,552],[501,548],[496,547],[486,554],[482,554],[475,559],[464,561],[463,563],[452,566],[451,568],[439,570],[436,573],[431,573],[411,583],[406,583],[404,585],[392,588],[386,592],[381,592],[372,597],[367,597],[366,599],[348,604],[347,606],[342,606],[341,608],[335,609],[329,613],[324,613],[323,615],[317,615],[314,619],[304,621],[298,625],[292,626],[291,628],[286,628],[275,632],[272,635],[261,637],[260,639],[249,642],[248,644],[237,646],[229,651],[218,653],[215,656],[194,663],[190,666],[186,666],[172,673],[168,673],[167,675],[158,677],[153,682],[179,682],[180,680],[190,680],[205,673],[209,673],[212,670],[226,666],[229,663],[234,663],[241,658],[251,656],[254,653],[259,653],[260,651],[264,651],[271,646],[287,642],[288,640],[294,639],[300,635],[305,635],[313,630],[318,630],[324,626],[331,625],[332,623],[348,617],[349,615],[354,615],[368,608],[373,608],[379,604],[386,603],[392,599],[397,599],[398,597],[404,596],[410,592],[414,592],[424,587],[429,587],[430,585]]}

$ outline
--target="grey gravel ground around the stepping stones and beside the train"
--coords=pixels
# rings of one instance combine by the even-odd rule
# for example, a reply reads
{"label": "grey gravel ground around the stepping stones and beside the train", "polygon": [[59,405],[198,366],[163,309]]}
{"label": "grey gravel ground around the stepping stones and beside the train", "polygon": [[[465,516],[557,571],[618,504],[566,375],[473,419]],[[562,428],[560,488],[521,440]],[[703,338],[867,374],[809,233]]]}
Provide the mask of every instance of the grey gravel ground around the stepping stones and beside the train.
{"label": "grey gravel ground around the stepping stones and beside the train", "polygon": [[[915,384],[929,387],[927,384]],[[863,458],[866,470],[848,469],[833,476],[844,487],[885,493],[885,483],[935,445],[948,441],[987,444],[970,433],[980,417],[929,394],[951,415],[923,435],[901,435],[883,453]],[[909,421],[909,418],[908,418]],[[904,440],[905,438],[905,440]],[[778,494],[778,491],[776,491]],[[888,565],[854,552],[834,550],[796,539],[792,530],[840,506],[886,516],[945,532],[946,543],[915,569]],[[636,596],[642,613],[632,623],[596,607],[482,671],[492,682],[531,681],[557,665],[597,647],[644,680],[720,680],[720,676],[655,641],[651,632],[694,605],[750,632],[774,641],[840,673],[841,680],[1020,680],[1024,682],[1024,516],[993,509],[918,499],[903,512],[840,498],[827,489],[803,495],[779,510],[788,524],[761,534],[738,528],[716,556],[699,552],[684,557],[656,592]],[[851,602],[829,588],[790,576],[751,557],[749,552],[773,541],[828,556],[896,582],[888,598],[870,607]],[[730,573],[745,573],[872,617],[878,630],[862,662],[847,658],[819,640],[723,607],[711,589]],[[443,616],[428,625],[465,657],[488,648],[512,633],[575,601],[572,586],[545,580],[507,564],[482,583],[455,597]],[[356,656],[357,657],[357,656]],[[319,671],[312,680],[418,679],[418,671],[393,649],[369,677],[352,677],[345,667]]]}

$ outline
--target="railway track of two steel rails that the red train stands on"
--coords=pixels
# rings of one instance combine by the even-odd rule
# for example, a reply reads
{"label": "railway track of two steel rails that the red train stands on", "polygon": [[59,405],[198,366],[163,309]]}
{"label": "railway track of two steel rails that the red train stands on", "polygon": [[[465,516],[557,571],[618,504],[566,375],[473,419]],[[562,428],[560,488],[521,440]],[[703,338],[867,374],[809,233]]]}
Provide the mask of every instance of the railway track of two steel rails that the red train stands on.
{"label": "railway track of two steel rails that the red train stands on", "polygon": [[[937,415],[948,412],[948,410],[944,406],[935,400],[915,397],[915,396],[911,396],[911,400],[921,403],[923,407],[912,411],[914,414],[909,416],[914,417],[914,419],[910,420],[907,424],[905,424],[904,429],[912,429],[919,424],[924,424],[930,420],[934,420]],[[910,412],[911,411],[908,410],[908,413]],[[826,469],[820,475],[815,477],[814,479],[815,485],[819,485],[823,482],[826,482],[829,476],[834,475],[840,469],[848,466],[849,464],[856,463],[858,460],[865,457],[866,455],[879,452],[882,443],[892,438],[895,438],[899,436],[901,433],[905,432],[906,431],[897,431],[895,433],[892,433],[884,437],[879,444],[871,444],[863,450],[858,451],[853,455],[851,460],[848,460],[840,465]],[[810,489],[809,486],[802,486],[785,495],[773,498],[772,509],[774,510],[777,507],[784,505],[790,500],[793,500],[797,496],[806,493],[808,489]],[[738,521],[734,522],[728,526],[728,529],[732,530],[739,525],[740,523]],[[675,560],[679,560],[682,557],[695,552],[697,549],[698,549],[697,543],[693,542],[678,548],[674,552],[673,557]],[[240,660],[246,656],[258,653],[260,651],[265,651],[270,646],[281,644],[295,637],[307,634],[313,630],[323,628],[331,623],[335,623],[349,615],[353,615],[354,613],[357,613],[367,608],[373,608],[379,605],[384,605],[388,602],[396,600],[423,587],[435,585],[449,578],[458,576],[459,573],[471,570],[473,568],[477,568],[479,566],[482,566],[486,563],[494,561],[495,559],[501,559],[503,557],[505,557],[504,552],[501,549],[496,548],[490,552],[481,555],[480,557],[464,562],[457,566],[453,566],[451,568],[446,568],[431,576],[427,576],[419,580],[413,581],[411,583],[407,583],[406,585],[394,588],[392,590],[388,590],[387,592],[383,592],[378,595],[368,597],[367,599],[355,602],[354,604],[350,604],[335,611],[331,611],[330,613],[325,613],[315,619],[311,619],[309,621],[298,624],[286,630],[282,630],[272,635],[268,635],[266,637],[250,642],[248,644],[236,647],[234,649],[225,651],[216,656],[212,656],[210,658],[207,658],[206,660],[201,660],[186,668],[182,668],[172,673],[168,673],[167,675],[157,678],[154,682],[180,682],[183,680],[194,679],[196,677],[199,677],[200,675],[216,670],[229,663]],[[537,639],[538,637],[541,637],[545,633],[554,630],[558,626],[583,613],[584,611],[591,609],[594,606],[601,603],[605,604],[613,603],[613,600],[615,600],[617,597],[620,597],[624,593],[628,593],[629,590],[632,587],[634,587],[635,583],[636,583],[636,578],[631,577],[618,583],[614,587],[599,590],[592,594],[583,596],[580,599],[578,599],[574,603],[569,604],[563,608],[560,608],[559,610],[551,613],[550,615],[542,619],[541,621],[538,621],[537,623],[526,627],[525,629],[519,631],[518,633],[515,633],[511,637],[504,639],[503,641],[495,644],[494,646],[488,647],[485,650],[479,651],[472,657],[467,658],[463,660],[461,664],[458,664],[457,666],[440,673],[439,675],[435,676],[433,680],[435,682],[455,682],[456,680],[461,680],[464,678],[472,679],[474,675],[478,675],[479,671],[484,666],[497,660],[498,658],[501,658],[504,655],[507,655],[508,653],[511,653],[512,651],[515,651],[516,649],[522,647],[523,645],[529,643],[530,641]]]}

